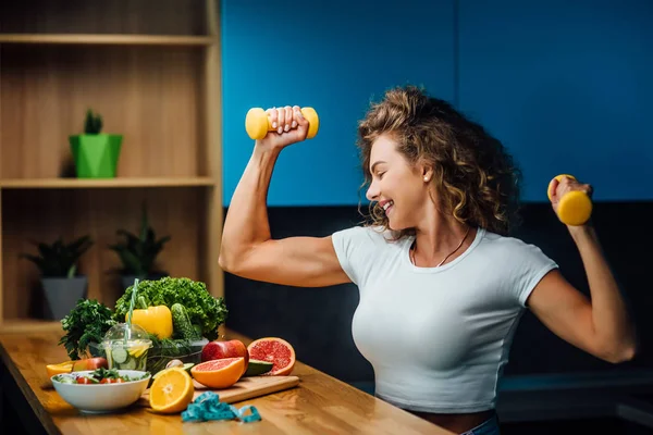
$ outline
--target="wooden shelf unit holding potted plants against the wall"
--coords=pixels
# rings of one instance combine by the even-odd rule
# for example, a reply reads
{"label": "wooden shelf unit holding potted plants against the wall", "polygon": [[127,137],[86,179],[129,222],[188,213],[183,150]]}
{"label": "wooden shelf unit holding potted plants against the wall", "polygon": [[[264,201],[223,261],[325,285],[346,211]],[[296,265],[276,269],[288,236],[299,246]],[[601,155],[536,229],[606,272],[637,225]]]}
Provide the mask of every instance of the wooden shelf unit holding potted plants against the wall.
{"label": "wooden shelf unit holding potted plants against the wall", "polygon": [[[113,308],[123,294],[109,244],[137,233],[146,203],[158,266],[224,295],[218,0],[25,0],[0,4],[0,331],[45,316],[33,240],[90,235],[79,272]],[[123,135],[115,178],[75,178],[69,136],[88,108]]]}

